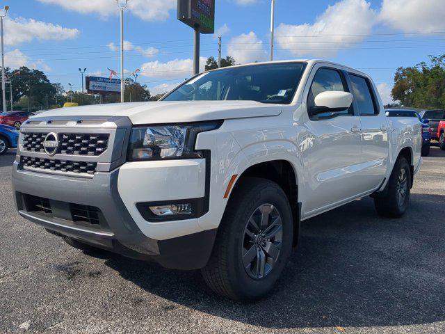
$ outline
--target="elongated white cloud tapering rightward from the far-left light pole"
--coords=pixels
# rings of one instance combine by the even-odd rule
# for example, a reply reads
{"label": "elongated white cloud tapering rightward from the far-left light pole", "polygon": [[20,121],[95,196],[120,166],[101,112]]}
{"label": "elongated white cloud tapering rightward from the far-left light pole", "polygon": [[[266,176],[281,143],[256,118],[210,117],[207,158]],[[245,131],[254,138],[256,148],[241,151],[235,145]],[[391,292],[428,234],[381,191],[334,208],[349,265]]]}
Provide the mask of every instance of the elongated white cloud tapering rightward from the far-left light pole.
{"label": "elongated white cloud tapering rightward from the far-left light pole", "polygon": [[69,40],[79,35],[77,29],[68,29],[56,24],[23,17],[16,19],[6,17],[4,26],[6,45],[19,45],[23,42],[30,42],[34,38],[38,40]]}

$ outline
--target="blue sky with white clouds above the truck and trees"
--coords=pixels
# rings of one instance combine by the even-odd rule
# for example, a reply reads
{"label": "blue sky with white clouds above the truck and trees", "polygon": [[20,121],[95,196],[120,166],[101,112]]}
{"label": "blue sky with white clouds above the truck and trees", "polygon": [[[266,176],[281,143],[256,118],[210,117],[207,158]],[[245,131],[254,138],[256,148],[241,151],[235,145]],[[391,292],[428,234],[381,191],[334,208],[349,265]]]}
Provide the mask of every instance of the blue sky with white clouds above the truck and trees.
{"label": "blue sky with white clouds above the truck and trees", "polygon": [[[394,72],[445,53],[443,0],[276,0],[275,59],[325,58],[371,74],[385,102]],[[161,93],[191,74],[193,31],[177,20],[177,0],[129,0],[128,73]],[[44,70],[52,82],[81,88],[79,67],[119,70],[114,0],[14,0],[5,22],[6,65]],[[270,0],[216,0],[223,56],[268,58]],[[217,56],[216,35],[202,35],[201,56]]]}

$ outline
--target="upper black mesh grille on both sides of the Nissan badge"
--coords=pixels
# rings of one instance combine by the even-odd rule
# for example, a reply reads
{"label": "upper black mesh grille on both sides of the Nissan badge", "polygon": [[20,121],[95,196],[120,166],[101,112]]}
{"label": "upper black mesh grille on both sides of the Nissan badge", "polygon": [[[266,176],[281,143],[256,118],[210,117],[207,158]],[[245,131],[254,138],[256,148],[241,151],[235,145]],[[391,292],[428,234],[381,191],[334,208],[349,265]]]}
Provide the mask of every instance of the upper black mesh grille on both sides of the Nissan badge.
{"label": "upper black mesh grille on both sides of the Nissan badge", "polygon": [[[47,134],[25,132],[23,150],[44,152],[43,142]],[[109,134],[58,134],[60,141],[57,154],[99,156],[108,148]]]}

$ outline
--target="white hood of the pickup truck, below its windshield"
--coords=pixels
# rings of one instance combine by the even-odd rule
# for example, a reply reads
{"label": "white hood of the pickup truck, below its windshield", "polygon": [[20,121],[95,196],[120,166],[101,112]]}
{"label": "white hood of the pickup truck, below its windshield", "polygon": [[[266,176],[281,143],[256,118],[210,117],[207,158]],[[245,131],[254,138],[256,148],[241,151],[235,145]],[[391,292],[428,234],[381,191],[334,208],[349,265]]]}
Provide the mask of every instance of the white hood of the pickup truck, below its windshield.
{"label": "white hood of the pickup truck, below its windshield", "polygon": [[161,101],[74,106],[46,111],[37,117],[127,116],[133,125],[139,125],[277,116],[281,111],[279,104],[254,101]]}

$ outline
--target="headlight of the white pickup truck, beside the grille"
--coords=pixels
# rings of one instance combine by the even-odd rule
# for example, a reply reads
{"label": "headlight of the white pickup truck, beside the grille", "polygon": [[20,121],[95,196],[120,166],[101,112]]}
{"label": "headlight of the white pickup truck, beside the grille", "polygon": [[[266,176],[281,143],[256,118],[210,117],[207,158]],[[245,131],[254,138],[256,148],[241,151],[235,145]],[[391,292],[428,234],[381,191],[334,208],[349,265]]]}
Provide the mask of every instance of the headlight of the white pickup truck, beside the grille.
{"label": "headlight of the white pickup truck, beside the grille", "polygon": [[133,127],[128,159],[140,161],[200,158],[202,157],[201,152],[195,151],[197,134],[218,129],[221,123],[213,121],[183,125]]}

